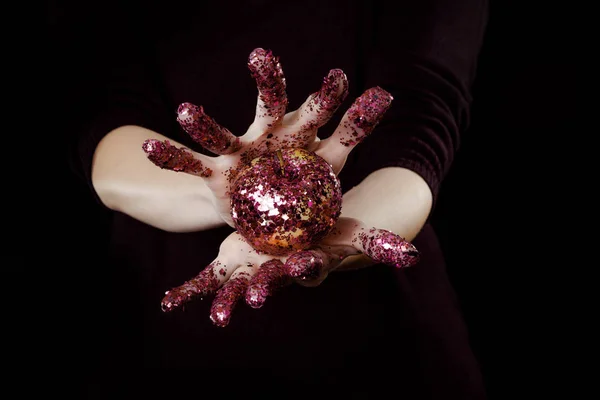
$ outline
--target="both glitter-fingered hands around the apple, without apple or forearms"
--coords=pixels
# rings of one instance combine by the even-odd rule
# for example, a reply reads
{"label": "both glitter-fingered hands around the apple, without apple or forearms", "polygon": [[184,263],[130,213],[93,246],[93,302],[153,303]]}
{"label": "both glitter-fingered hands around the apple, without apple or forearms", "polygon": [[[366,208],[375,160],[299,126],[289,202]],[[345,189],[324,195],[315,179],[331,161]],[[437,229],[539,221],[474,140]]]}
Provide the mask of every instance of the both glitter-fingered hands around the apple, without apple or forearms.
{"label": "both glitter-fingered hands around the apple, without apple or forearms", "polygon": [[[206,115],[202,107],[190,103],[179,106],[182,128],[196,143],[218,156],[177,148],[168,141],[147,140],[143,144],[148,158],[157,166],[203,179],[211,189],[215,209],[230,226],[234,225],[229,190],[242,166],[265,152],[293,147],[315,152],[337,175],[350,151],[373,131],[392,101],[381,88],[365,91],[346,111],[335,132],[320,140],[318,129],[348,94],[345,74],[331,70],[318,92],[297,110],[286,113],[286,81],[278,58],[270,51],[256,49],[250,54],[248,66],[259,94],[254,122],[244,135],[233,135]],[[418,261],[417,250],[403,238],[350,218],[340,218],[331,233],[313,248],[287,257],[261,254],[234,232],[221,244],[217,258],[198,276],[166,292],[162,308],[171,311],[195,297],[215,294],[211,319],[218,326],[226,326],[242,298],[259,308],[277,289],[293,282],[317,285],[344,259],[357,254],[396,267]]]}

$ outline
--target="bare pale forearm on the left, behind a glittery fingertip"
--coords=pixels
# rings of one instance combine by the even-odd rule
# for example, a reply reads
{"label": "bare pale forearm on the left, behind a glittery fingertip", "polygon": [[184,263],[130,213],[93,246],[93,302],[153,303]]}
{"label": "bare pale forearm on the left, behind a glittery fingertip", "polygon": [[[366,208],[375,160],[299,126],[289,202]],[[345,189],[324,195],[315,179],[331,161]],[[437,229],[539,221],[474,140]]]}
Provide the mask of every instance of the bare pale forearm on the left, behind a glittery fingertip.
{"label": "bare pale forearm on the left, behind a glittery fingertip", "polygon": [[196,176],[157,168],[146,157],[146,139],[177,142],[139,126],[123,126],[98,144],[92,163],[92,184],[110,209],[154,227],[186,232],[223,225],[212,193]]}

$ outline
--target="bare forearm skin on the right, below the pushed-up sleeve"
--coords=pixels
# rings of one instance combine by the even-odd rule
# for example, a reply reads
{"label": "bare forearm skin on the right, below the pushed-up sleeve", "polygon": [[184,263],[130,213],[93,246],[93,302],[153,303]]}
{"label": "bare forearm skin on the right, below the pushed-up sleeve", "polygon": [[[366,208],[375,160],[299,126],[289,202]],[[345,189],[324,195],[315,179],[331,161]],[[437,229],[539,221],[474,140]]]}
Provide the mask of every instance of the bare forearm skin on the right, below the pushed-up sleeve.
{"label": "bare forearm skin on the right, below the pushed-up sleeve", "polygon": [[[431,212],[429,186],[406,168],[382,168],[365,178],[344,195],[342,216],[356,218],[365,225],[394,232],[412,241]],[[338,269],[372,265],[366,256],[352,256]]]}

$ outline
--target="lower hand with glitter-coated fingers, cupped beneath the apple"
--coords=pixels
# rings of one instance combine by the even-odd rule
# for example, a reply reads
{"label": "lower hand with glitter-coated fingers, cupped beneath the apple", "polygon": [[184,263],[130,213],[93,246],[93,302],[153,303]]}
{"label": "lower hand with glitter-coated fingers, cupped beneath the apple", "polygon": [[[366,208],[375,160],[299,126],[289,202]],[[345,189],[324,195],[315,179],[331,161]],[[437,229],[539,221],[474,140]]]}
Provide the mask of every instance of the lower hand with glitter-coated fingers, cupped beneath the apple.
{"label": "lower hand with glitter-coated fingers, cupped beneath the apple", "polygon": [[319,245],[289,257],[259,254],[234,232],[221,244],[217,258],[198,276],[166,292],[162,309],[172,311],[195,297],[216,294],[210,318],[224,327],[241,298],[249,306],[260,308],[277,289],[294,281],[317,285],[344,259],[357,254],[397,268],[412,266],[419,260],[417,249],[400,236],[369,229],[352,218],[340,218]]}

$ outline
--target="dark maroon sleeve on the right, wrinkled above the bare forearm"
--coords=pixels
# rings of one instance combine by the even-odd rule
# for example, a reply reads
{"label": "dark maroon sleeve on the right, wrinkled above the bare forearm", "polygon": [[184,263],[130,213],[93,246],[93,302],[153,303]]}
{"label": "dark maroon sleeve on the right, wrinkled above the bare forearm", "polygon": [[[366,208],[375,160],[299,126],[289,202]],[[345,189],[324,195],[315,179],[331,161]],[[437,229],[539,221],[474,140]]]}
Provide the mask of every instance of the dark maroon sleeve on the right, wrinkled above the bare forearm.
{"label": "dark maroon sleeve on the right, wrinkled above the bare forearm", "polygon": [[424,178],[437,198],[469,126],[471,85],[487,23],[485,0],[379,1],[365,35],[364,87],[392,107],[357,155],[358,182],[389,166]]}

